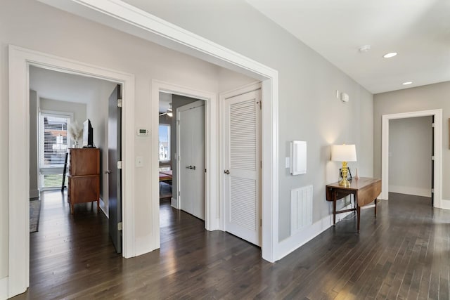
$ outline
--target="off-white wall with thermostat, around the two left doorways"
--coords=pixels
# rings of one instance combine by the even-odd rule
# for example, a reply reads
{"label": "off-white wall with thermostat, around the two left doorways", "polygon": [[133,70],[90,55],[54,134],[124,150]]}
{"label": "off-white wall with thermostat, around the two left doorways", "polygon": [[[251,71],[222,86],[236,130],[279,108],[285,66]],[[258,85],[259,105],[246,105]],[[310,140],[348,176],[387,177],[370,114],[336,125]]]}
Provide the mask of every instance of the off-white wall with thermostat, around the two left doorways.
{"label": "off-white wall with thermostat, around the two left doorways", "polygon": [[[56,26],[57,24],[57,26]],[[150,129],[151,80],[218,93],[220,68],[32,0],[5,0],[0,10],[0,279],[8,275],[8,44],[134,74],[137,128]],[[242,84],[245,84],[243,82]],[[233,86],[236,88],[237,86]],[[23,117],[25,122],[26,116]],[[85,119],[84,117],[83,119]],[[98,127],[98,126],[97,126]],[[95,134],[95,133],[94,133]],[[152,239],[150,136],[135,138],[144,166],[134,178],[136,252]]]}

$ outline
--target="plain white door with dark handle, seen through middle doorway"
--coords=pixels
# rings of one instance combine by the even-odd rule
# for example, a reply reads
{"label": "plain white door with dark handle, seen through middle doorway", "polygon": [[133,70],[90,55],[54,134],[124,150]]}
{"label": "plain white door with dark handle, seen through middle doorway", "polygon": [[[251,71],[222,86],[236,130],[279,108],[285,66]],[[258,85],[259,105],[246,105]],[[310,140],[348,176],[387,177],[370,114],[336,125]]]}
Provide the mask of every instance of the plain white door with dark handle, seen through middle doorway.
{"label": "plain white door with dark handle, seen through middle doorway", "polygon": [[181,106],[176,115],[180,208],[205,220],[205,102]]}

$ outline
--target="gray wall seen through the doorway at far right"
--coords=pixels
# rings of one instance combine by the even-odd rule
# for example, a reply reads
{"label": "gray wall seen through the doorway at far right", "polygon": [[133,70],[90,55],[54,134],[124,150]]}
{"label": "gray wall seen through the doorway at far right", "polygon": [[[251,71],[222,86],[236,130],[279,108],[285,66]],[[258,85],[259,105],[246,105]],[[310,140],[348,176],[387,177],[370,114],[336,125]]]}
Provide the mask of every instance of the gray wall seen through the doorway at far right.
{"label": "gray wall seen through the doorway at far right", "polygon": [[431,196],[432,117],[389,122],[389,191]]}

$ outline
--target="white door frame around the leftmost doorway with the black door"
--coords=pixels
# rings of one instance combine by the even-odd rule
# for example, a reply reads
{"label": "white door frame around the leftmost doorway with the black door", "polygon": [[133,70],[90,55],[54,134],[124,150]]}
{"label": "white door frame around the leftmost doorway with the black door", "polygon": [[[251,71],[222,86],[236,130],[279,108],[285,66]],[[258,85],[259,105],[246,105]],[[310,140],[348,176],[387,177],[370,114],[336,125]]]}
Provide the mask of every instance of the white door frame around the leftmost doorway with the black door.
{"label": "white door frame around the leftmost doorway with the black door", "polygon": [[[122,169],[124,257],[135,256],[134,237],[134,75],[108,70],[76,60],[18,46],[8,46],[9,56],[9,258],[8,296],[25,292],[30,285],[30,65],[58,72],[82,74],[123,86]],[[131,162],[127,164],[127,162]]]}

